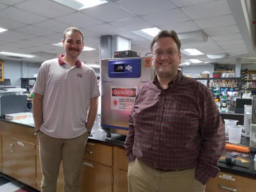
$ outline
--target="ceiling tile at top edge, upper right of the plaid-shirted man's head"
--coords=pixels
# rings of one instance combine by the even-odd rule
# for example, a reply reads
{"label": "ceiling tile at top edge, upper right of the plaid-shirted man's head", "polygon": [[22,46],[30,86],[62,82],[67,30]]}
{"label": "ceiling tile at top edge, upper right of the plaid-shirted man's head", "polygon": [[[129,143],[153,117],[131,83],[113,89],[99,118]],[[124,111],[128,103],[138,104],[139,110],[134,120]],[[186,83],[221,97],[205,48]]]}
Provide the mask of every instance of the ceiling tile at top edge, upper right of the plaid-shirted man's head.
{"label": "ceiling tile at top edge, upper right of the plaid-shirted man's head", "polygon": [[181,11],[193,20],[231,14],[226,0],[183,7]]}

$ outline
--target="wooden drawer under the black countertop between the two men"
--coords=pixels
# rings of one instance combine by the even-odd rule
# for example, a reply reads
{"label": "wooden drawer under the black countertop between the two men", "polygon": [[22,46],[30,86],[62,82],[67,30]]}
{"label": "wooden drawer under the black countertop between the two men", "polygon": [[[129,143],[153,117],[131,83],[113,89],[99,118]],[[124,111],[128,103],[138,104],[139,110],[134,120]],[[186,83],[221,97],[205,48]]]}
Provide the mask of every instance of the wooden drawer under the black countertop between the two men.
{"label": "wooden drawer under the black countertop between the two men", "polygon": [[101,163],[107,166],[113,166],[112,163],[113,148],[94,142],[87,142],[84,159]]}

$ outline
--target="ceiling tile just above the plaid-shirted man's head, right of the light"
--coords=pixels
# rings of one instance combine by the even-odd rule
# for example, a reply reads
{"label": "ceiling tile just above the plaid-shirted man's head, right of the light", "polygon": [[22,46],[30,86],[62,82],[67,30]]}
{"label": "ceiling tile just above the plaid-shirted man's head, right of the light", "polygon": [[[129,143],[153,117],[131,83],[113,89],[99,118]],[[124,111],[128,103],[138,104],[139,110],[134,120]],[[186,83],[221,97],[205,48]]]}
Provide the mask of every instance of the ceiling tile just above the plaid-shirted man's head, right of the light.
{"label": "ceiling tile just above the plaid-shirted man's head, right of the light", "polygon": [[158,28],[165,29],[165,30],[175,30],[177,33],[185,33],[185,32],[196,31],[200,29],[195,25],[194,21],[165,23],[164,25],[159,26]]}

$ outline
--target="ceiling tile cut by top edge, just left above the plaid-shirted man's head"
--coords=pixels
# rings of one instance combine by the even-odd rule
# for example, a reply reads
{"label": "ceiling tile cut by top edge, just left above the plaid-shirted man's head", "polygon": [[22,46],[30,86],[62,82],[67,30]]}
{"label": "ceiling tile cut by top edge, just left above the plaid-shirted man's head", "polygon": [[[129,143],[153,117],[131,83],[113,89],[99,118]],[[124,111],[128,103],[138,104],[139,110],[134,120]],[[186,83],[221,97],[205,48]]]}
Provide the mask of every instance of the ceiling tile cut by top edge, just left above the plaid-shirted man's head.
{"label": "ceiling tile cut by top edge, just left above the plaid-shirted man's head", "polygon": [[176,8],[170,0],[125,0],[116,3],[137,15],[163,12]]}

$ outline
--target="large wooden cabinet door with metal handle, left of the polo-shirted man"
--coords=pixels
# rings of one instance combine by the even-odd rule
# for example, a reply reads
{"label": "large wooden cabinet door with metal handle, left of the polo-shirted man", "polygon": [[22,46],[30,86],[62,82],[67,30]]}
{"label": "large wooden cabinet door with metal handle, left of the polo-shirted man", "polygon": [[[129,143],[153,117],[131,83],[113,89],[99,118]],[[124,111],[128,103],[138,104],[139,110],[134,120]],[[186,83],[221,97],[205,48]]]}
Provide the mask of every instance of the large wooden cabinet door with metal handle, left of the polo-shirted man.
{"label": "large wooden cabinet door with metal handle, left of the polo-shirted man", "polygon": [[3,172],[36,188],[35,144],[15,138],[5,142]]}

